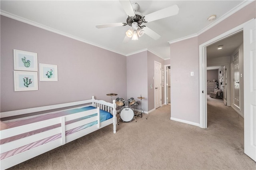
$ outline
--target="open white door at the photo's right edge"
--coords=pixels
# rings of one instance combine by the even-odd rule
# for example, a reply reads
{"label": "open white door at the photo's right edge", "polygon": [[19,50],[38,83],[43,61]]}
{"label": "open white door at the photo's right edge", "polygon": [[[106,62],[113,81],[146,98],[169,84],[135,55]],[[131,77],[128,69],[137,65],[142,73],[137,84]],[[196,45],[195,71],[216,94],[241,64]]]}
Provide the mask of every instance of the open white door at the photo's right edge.
{"label": "open white door at the photo's right edge", "polygon": [[244,153],[256,161],[256,20],[244,26]]}

